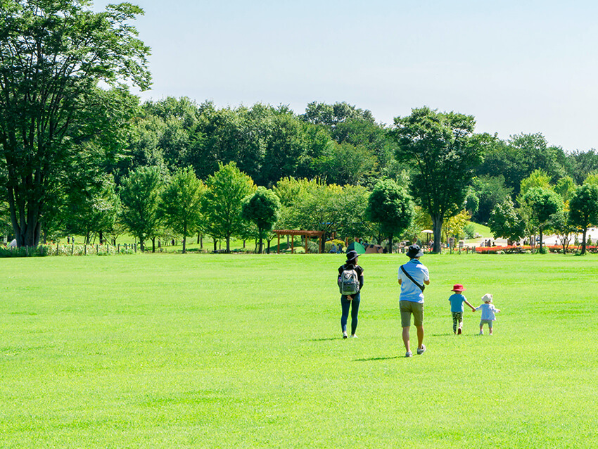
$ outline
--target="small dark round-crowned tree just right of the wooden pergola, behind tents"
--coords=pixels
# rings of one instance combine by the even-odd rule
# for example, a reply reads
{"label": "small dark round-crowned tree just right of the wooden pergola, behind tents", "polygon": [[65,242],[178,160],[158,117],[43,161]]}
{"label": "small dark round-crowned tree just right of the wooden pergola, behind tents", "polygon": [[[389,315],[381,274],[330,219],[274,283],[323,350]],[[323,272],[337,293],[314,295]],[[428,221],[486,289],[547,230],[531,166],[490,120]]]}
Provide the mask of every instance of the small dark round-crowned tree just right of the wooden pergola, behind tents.
{"label": "small dark round-crowned tree just right of the wooden pergola, behind tents", "polygon": [[365,215],[371,222],[380,223],[388,236],[388,252],[393,252],[393,240],[409,228],[414,217],[413,203],[407,191],[392,179],[384,179],[374,186],[367,201]]}

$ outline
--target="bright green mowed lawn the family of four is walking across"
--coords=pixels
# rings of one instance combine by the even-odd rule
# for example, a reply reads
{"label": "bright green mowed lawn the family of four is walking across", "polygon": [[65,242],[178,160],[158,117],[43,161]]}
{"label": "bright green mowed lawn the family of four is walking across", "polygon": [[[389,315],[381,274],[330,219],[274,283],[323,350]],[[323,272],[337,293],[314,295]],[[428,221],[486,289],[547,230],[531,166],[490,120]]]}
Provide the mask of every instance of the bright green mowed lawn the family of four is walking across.
{"label": "bright green mowed lawn the family of four is walking across", "polygon": [[[405,255],[360,258],[348,340],[343,260],[0,260],[0,447],[598,447],[596,256],[424,256],[428,350],[410,359]],[[454,283],[494,294],[495,335],[480,312],[452,333]]]}

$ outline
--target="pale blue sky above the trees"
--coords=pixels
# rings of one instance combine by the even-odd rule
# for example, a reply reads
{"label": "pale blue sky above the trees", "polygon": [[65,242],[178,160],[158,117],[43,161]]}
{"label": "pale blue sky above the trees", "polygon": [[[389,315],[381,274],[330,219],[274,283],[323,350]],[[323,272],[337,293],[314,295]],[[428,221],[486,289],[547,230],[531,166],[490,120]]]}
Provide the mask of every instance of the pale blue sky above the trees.
{"label": "pale blue sky above the trees", "polygon": [[[217,106],[346,101],[390,124],[430,106],[478,132],[598,148],[598,3],[130,0],[151,91]],[[95,1],[96,10],[108,1]]]}

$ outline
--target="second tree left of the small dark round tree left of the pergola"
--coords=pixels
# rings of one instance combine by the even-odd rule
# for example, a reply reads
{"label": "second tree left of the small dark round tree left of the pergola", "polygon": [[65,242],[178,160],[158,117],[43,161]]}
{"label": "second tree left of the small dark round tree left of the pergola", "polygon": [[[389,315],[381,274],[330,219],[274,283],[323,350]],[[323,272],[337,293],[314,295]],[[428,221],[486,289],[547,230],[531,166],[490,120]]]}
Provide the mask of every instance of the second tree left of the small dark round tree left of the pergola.
{"label": "second tree left of the small dark round tree left of the pergola", "polygon": [[201,198],[205,185],[197,179],[193,168],[179,168],[160,195],[160,216],[172,231],[183,236],[183,254],[187,237],[201,226]]}

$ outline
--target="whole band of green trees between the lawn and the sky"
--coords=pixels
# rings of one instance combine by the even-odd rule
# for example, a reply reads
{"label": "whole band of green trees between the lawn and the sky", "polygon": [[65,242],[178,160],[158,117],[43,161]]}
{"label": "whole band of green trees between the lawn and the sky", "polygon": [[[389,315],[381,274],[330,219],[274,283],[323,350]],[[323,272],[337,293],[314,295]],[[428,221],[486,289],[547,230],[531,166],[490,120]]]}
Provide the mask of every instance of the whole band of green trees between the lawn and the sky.
{"label": "whole band of green trees between the lawn and the sky", "polygon": [[392,246],[429,226],[438,252],[464,214],[511,239],[598,221],[576,215],[593,198],[594,149],[476,133],[473,115],[428,107],[387,125],[345,102],[300,114],[185,97],[141,103],[128,87],[151,83],[149,49],[130,25],[140,8],[2,6],[0,217],[19,246],[126,231],[142,244],[198,233],[227,248],[232,236],[255,237],[261,251],[272,227]]}

